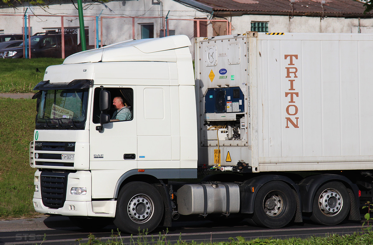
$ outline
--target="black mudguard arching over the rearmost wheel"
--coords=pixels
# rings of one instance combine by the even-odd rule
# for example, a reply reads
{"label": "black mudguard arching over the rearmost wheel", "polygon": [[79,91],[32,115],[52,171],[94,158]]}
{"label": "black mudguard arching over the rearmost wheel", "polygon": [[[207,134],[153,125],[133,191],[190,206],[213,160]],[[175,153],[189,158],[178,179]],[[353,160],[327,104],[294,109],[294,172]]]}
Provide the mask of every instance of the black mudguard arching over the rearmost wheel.
{"label": "black mudguard arching over the rearmost wheel", "polygon": [[317,189],[329,181],[340,181],[347,187],[347,191],[351,198],[351,208],[350,208],[350,220],[360,220],[360,213],[358,210],[359,204],[359,188],[356,184],[353,184],[350,179],[345,176],[337,174],[320,174],[313,175],[304,178],[299,182],[299,190],[301,192],[301,200],[303,203],[302,211],[309,213],[312,212],[313,199],[316,194]]}

